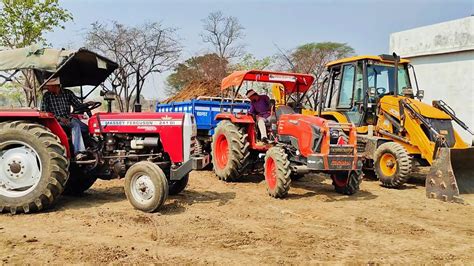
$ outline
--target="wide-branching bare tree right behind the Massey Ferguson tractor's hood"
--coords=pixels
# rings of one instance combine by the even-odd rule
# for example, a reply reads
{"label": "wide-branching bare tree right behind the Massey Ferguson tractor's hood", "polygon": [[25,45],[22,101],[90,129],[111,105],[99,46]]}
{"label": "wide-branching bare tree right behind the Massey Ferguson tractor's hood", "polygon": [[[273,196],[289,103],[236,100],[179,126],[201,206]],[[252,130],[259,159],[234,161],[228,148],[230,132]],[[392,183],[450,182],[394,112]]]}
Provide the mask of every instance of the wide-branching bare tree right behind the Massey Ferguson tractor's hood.
{"label": "wide-branching bare tree right behind the Massey Ferguson tractor's hood", "polygon": [[146,78],[172,69],[182,50],[176,29],[156,22],[137,27],[115,21],[110,26],[95,22],[87,34],[86,47],[119,64],[109,81],[118,95],[118,107],[122,112],[132,110],[136,101],[134,93],[137,88],[141,91]]}

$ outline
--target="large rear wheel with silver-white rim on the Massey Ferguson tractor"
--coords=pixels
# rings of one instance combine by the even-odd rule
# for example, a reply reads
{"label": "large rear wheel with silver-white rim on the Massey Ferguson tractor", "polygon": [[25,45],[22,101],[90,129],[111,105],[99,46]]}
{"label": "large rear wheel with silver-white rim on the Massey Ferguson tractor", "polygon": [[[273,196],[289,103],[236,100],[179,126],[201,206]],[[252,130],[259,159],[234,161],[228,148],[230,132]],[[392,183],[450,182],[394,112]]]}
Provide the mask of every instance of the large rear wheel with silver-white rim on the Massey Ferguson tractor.
{"label": "large rear wheel with silver-white rim on the Massey Ferguson tractor", "polygon": [[52,206],[68,179],[59,138],[39,124],[0,123],[0,212],[30,213]]}

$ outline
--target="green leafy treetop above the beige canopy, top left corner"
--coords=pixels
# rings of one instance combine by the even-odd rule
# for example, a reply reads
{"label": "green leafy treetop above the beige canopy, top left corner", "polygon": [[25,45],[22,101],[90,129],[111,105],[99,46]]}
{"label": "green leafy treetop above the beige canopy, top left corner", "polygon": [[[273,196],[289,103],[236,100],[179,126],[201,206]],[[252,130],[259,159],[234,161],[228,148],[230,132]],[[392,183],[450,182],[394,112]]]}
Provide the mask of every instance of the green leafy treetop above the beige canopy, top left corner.
{"label": "green leafy treetop above the beige canopy, top left corner", "polygon": [[45,44],[45,33],[72,20],[58,0],[1,0],[0,8],[0,46],[10,48]]}

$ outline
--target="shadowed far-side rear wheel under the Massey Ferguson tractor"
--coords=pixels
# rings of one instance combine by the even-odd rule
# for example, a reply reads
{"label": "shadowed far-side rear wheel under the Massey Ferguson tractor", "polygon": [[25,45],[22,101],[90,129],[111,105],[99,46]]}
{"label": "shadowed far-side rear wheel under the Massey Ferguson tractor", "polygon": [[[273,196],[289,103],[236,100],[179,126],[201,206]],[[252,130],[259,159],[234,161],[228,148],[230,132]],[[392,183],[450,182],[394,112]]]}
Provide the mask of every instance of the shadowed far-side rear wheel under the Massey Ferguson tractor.
{"label": "shadowed far-side rear wheel under the Massey Ferguson tractor", "polygon": [[78,196],[94,185],[97,177],[84,173],[81,168],[71,164],[69,167],[69,179],[64,187],[63,194]]}

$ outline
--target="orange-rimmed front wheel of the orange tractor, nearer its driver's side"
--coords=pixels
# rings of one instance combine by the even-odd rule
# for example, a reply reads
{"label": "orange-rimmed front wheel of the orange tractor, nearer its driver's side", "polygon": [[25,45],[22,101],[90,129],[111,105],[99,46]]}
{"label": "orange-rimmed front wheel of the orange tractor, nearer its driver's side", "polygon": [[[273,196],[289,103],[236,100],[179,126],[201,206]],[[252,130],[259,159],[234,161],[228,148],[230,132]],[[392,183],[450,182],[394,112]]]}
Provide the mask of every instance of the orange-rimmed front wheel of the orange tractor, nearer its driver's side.
{"label": "orange-rimmed front wheel of the orange tractor, nearer its driver's side", "polygon": [[265,181],[268,195],[283,198],[291,184],[291,170],[288,155],[281,147],[272,147],[265,154]]}

